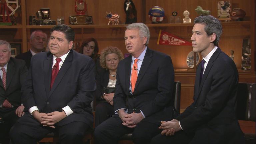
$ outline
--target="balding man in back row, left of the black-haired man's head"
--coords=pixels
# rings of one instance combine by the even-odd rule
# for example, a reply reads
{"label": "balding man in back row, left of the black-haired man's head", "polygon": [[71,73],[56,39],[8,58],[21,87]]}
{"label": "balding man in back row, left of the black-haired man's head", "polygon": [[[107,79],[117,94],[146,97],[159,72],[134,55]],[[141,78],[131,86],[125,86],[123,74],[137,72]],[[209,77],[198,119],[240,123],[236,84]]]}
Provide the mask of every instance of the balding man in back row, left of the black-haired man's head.
{"label": "balding man in back row, left of the black-haired man's head", "polygon": [[31,57],[37,53],[40,53],[44,49],[44,45],[47,41],[46,33],[41,30],[36,30],[31,33],[30,36],[30,50],[15,56],[17,59],[23,59],[26,62],[26,66],[29,69]]}

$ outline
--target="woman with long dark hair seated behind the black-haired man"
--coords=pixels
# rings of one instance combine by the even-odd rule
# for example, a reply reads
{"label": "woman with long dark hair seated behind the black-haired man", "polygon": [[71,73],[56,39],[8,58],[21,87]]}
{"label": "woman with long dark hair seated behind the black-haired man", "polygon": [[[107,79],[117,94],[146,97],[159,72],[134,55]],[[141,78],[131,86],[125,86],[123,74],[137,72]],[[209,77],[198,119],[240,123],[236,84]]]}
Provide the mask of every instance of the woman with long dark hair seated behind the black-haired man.
{"label": "woman with long dark hair seated behind the black-haired man", "polygon": [[97,75],[97,73],[99,72],[99,70],[101,71],[102,68],[100,66],[100,60],[99,60],[99,47],[98,47],[98,42],[95,38],[88,38],[86,39],[80,49],[79,49],[79,53],[87,55],[89,57],[91,57],[94,62],[95,62],[95,77]]}

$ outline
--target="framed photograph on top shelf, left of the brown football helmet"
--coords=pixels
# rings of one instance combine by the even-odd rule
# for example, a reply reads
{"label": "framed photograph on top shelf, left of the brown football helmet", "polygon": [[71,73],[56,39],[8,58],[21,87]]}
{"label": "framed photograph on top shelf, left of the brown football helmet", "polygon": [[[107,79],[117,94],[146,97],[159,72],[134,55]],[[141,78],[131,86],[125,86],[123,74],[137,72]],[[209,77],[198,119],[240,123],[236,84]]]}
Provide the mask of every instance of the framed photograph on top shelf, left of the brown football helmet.
{"label": "framed photograph on top shelf, left of the brown football helmet", "polygon": [[232,0],[217,0],[217,16],[219,20],[231,20]]}

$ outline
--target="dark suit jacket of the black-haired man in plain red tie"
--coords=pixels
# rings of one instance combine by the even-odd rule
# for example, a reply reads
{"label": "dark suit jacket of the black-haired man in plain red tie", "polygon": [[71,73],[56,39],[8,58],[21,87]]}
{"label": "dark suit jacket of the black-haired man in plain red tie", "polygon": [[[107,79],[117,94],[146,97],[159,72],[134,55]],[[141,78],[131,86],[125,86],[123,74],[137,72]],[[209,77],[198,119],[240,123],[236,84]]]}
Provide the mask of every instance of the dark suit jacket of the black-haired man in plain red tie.
{"label": "dark suit jacket of the black-haired man in plain red tie", "polygon": [[[22,102],[25,110],[37,106],[40,112],[62,111],[69,106],[74,112],[59,121],[61,126],[74,121],[85,122],[92,126],[93,115],[90,103],[92,91],[96,89],[93,60],[74,50],[70,50],[50,89],[53,55],[42,52],[32,57],[28,77],[22,87]],[[26,112],[19,119],[27,125],[40,125]]]}

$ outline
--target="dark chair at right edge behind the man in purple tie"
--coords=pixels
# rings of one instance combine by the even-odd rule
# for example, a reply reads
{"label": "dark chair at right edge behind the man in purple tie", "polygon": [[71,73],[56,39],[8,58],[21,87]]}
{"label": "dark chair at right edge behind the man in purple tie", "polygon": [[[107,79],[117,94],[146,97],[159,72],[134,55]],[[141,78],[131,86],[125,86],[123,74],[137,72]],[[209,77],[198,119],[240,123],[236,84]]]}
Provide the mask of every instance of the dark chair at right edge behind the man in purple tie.
{"label": "dark chair at right edge behind the man in purple tie", "polygon": [[237,101],[237,118],[246,144],[255,144],[255,83],[239,83]]}

